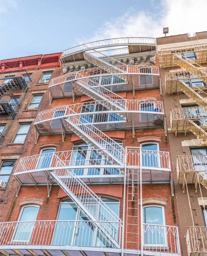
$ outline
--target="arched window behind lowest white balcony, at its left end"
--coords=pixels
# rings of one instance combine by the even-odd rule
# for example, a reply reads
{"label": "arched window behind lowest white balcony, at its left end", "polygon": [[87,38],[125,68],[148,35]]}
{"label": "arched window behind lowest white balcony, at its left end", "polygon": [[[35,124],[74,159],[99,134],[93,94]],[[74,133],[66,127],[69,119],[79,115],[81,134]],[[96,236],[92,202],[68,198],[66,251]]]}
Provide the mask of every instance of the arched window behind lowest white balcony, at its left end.
{"label": "arched window behind lowest white balcony, at its left end", "polygon": [[25,206],[22,208],[18,221],[25,222],[20,222],[18,224],[14,231],[13,241],[29,241],[35,224],[34,221],[36,221],[37,218],[38,209],[39,207],[36,205]]}

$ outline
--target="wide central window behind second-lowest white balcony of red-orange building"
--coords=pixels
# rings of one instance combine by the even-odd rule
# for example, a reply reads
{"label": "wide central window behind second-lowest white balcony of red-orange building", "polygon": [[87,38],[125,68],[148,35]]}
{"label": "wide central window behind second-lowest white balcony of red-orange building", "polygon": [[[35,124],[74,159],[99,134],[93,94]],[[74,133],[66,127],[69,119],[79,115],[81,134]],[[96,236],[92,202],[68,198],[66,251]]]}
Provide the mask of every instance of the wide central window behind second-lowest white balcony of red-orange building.
{"label": "wide central window behind second-lowest white balcony of red-orange building", "polygon": [[[122,146],[122,141],[115,140],[118,145]],[[118,147],[117,144],[113,147]],[[110,149],[110,145],[107,146]],[[115,154],[121,160],[121,154],[119,150],[113,150],[112,154]],[[87,143],[80,142],[73,145],[73,152],[71,156],[72,166],[100,166],[110,164],[100,151],[92,149]],[[74,169],[76,175],[118,175],[119,169],[115,168],[77,168]]]}

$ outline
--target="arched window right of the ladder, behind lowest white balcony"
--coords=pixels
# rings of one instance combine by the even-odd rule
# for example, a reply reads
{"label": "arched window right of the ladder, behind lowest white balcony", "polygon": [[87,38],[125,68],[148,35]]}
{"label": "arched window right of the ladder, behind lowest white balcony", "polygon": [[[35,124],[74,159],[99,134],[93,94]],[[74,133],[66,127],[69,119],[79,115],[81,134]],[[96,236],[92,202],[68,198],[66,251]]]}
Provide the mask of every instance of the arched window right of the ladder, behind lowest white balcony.
{"label": "arched window right of the ladder, behind lowest white balcony", "polygon": [[164,207],[146,206],[143,207],[144,222],[144,244],[167,246]]}

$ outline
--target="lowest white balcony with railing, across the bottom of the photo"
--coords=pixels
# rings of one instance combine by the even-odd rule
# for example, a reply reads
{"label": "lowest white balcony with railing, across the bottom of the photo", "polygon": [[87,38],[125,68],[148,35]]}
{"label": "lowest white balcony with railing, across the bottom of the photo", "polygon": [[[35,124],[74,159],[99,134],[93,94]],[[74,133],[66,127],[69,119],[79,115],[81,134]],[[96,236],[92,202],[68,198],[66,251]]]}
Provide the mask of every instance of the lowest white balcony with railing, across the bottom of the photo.
{"label": "lowest white balcony with railing, across the bottom of the photo", "polygon": [[[106,239],[105,228],[118,239],[120,247]],[[115,255],[127,256],[141,253],[141,237],[135,240],[138,248],[122,246],[121,224],[108,221],[17,221],[0,223],[0,253],[4,255]],[[144,255],[180,256],[178,228],[143,224],[142,244]],[[124,244],[124,243],[123,243]],[[127,247],[127,244],[126,244]]]}

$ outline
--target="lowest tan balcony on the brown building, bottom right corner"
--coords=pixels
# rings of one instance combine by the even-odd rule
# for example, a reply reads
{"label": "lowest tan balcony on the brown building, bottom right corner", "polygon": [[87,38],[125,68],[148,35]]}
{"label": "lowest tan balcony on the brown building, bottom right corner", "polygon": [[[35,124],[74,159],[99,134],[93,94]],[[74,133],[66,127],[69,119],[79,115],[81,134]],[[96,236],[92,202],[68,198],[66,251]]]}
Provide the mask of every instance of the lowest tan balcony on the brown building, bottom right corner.
{"label": "lowest tan balcony on the brown building, bottom right corner", "polygon": [[188,256],[207,256],[207,227],[188,227],[186,241]]}

